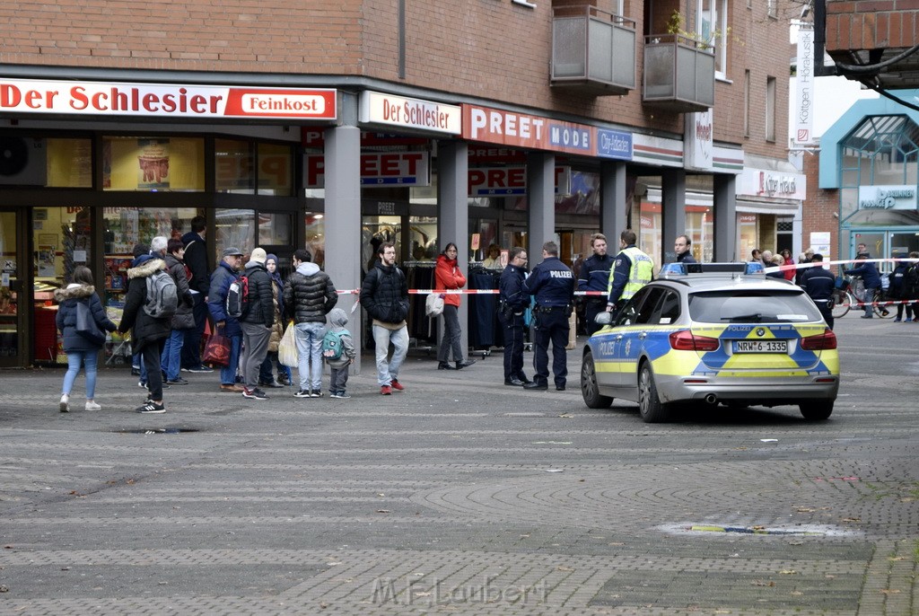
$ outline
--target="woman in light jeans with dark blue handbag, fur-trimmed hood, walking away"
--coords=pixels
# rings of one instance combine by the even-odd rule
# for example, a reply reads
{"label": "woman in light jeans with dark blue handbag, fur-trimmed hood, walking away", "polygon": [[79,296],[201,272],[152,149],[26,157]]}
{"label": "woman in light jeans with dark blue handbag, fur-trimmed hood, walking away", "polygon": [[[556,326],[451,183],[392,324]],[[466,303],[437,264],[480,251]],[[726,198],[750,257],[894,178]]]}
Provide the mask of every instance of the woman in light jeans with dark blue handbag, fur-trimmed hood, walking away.
{"label": "woman in light jeans with dark blue handbag, fur-trimmed hood, walking away", "polygon": [[63,376],[61,412],[70,412],[70,393],[82,365],[86,371],[87,411],[98,411],[96,404],[96,372],[99,351],[105,345],[105,331],[113,332],[118,325],[106,316],[105,308],[93,286],[93,272],[85,266],[74,268],[74,281],[63,289],[54,291],[60,304],[55,317],[57,328],[63,336],[63,350],[67,354],[67,372]]}

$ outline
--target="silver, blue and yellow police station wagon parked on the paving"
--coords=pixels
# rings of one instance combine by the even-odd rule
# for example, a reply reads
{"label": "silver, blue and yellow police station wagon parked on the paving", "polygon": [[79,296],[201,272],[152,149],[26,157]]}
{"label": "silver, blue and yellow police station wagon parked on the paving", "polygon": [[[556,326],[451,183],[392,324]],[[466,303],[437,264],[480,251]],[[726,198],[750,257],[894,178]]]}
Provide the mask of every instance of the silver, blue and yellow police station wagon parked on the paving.
{"label": "silver, blue and yellow police station wagon parked on the paving", "polygon": [[614,398],[666,421],[675,405],[798,405],[833,413],[836,337],[811,298],[758,263],[675,263],[642,287],[584,347],[581,393],[590,408]]}

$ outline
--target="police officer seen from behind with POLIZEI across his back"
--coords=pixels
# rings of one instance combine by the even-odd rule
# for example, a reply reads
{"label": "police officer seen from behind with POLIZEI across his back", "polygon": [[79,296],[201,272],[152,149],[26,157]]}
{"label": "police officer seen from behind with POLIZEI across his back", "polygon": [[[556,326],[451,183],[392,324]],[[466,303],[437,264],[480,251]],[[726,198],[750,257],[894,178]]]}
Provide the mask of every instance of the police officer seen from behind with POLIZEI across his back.
{"label": "police officer seen from behind with POLIZEI across his back", "polygon": [[568,317],[572,313],[574,299],[574,274],[559,260],[559,246],[555,242],[542,245],[543,261],[533,268],[523,283],[528,295],[536,296],[534,318],[534,358],[536,371],[533,382],[524,385],[526,389],[549,389],[549,343],[552,344],[552,373],[555,375],[555,389],[565,391],[568,376]]}

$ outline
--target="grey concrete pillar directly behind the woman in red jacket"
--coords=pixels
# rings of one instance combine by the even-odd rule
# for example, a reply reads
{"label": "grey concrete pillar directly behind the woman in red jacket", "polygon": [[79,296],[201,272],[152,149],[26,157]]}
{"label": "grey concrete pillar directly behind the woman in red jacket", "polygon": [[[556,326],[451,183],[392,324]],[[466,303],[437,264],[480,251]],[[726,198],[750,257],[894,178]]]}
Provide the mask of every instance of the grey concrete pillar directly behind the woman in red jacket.
{"label": "grey concrete pillar directly behind the woman in red jacket", "polygon": [[[459,271],[469,276],[469,145],[445,140],[437,142],[437,245],[440,252],[448,242],[457,245]],[[467,283],[468,288],[468,283]],[[469,296],[459,302],[459,340],[463,352],[469,349]],[[444,334],[438,319],[437,342]]]}

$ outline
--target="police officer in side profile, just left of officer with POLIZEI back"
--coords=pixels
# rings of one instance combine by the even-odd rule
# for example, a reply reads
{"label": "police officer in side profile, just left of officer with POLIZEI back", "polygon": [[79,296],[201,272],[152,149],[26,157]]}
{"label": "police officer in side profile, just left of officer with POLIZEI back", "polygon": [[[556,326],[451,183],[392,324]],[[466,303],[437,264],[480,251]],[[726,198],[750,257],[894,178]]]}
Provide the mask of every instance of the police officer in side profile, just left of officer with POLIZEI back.
{"label": "police officer in side profile, just left of officer with POLIZEI back", "polygon": [[498,320],[505,330],[505,385],[517,387],[530,382],[523,371],[523,314],[529,305],[529,295],[523,291],[526,278],[527,249],[514,246],[498,282],[501,301]]}

